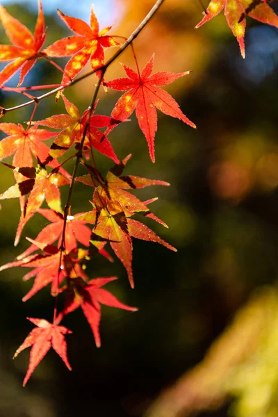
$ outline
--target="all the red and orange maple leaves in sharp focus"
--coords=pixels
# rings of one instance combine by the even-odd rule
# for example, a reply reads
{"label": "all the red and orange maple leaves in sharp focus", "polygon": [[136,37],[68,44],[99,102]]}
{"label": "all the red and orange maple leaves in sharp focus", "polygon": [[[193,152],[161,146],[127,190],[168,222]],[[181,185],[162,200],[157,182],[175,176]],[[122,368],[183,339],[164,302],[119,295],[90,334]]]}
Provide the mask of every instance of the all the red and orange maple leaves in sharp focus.
{"label": "all the red and orange maple leaves in sharp focus", "polygon": [[[152,74],[154,56],[140,72],[134,54],[137,72],[123,65],[127,77],[106,81],[104,74],[108,64],[105,62],[104,50],[120,47],[121,52],[131,44],[131,41],[122,44],[120,36],[108,35],[111,26],[99,31],[99,24],[93,8],[90,13],[90,25],[76,17],[64,15],[58,10],[58,15],[74,32],[74,35],[57,40],[54,44],[43,49],[46,28],[41,0],[38,0],[38,3],[39,13],[34,34],[15,17],[12,17],[3,6],[0,6],[1,23],[12,43],[11,45],[0,45],[0,61],[11,61],[0,72],[0,86],[6,88],[5,84],[8,80],[20,70],[19,83],[12,90],[25,94],[31,98],[29,104],[34,104],[33,113],[26,129],[21,124],[5,122],[0,124],[0,130],[7,135],[0,142],[0,160],[13,156],[13,165],[8,163],[4,163],[4,165],[13,170],[15,177],[15,185],[1,193],[0,199],[19,198],[21,215],[15,235],[15,245],[19,242],[26,223],[35,213],[43,215],[49,221],[49,224],[40,231],[35,239],[27,238],[31,246],[17,256],[15,261],[2,265],[0,271],[16,266],[32,268],[23,277],[24,280],[34,279],[33,286],[24,296],[23,301],[33,297],[49,284],[51,284],[51,295],[56,297],[53,322],[29,318],[36,327],[15,353],[17,356],[26,347],[31,347],[30,363],[24,385],[51,346],[63,359],[67,368],[71,369],[67,360],[65,342],[65,334],[71,332],[66,327],[60,326],[61,320],[68,313],[72,313],[81,306],[95,336],[95,343],[99,347],[101,345],[99,335],[101,304],[136,311],[136,308],[123,304],[102,288],[117,277],[97,277],[95,279],[88,277],[85,273],[85,263],[91,256],[99,252],[108,261],[113,261],[111,254],[106,251],[107,246],[110,245],[115,256],[124,265],[133,288],[132,238],[160,243],[167,249],[175,251],[174,247],[157,236],[144,223],[133,218],[134,215],[142,215],[167,227],[149,210],[149,204],[154,202],[156,197],[142,202],[130,193],[131,190],[138,188],[168,186],[169,183],[133,175],[122,175],[130,155],[120,161],[113,150],[108,135],[117,125],[126,122],[133,111],[136,111],[138,124],[147,140],[149,156],[154,162],[154,138],[157,131],[156,108],[193,128],[196,127],[182,113],[177,102],[165,90],[161,89],[163,85],[170,84],[189,72]],[[159,0],[158,3],[160,5],[162,1]],[[227,22],[238,39],[243,56],[245,55],[245,14],[261,22],[278,26],[277,15],[265,1],[212,0],[204,19],[197,27],[220,13],[223,8]],[[115,57],[117,55],[119,54],[115,54]],[[52,58],[65,56],[71,57],[65,68],[61,68],[52,60]],[[20,85],[39,58],[47,60],[50,65],[54,65],[63,72],[58,88],[52,90],[51,94],[57,92],[56,99],[62,97],[67,114],[52,115],[44,120],[34,120],[35,110],[43,97],[31,96],[26,91],[31,92],[32,87],[22,88]],[[109,65],[113,60],[115,59],[109,61]],[[79,79],[85,78],[85,76],[79,76],[79,79],[76,79],[76,76],[89,61],[91,71],[85,76],[96,74],[98,83],[90,106],[81,115],[79,109],[65,96],[65,89]],[[124,92],[110,116],[94,114],[100,85],[103,85],[105,89],[111,88]],[[33,86],[33,90],[39,90],[40,87],[51,88],[51,85]],[[7,109],[1,109],[3,116]],[[56,131],[41,129],[41,126],[47,129],[56,129]],[[105,129],[105,131],[100,129]],[[51,138],[54,140],[48,147],[43,141]],[[76,151],[74,156],[70,156],[76,161],[72,175],[63,168],[65,160],[59,159],[68,149]],[[111,158],[115,163],[108,171],[106,178],[102,177],[95,165],[95,149]],[[76,176],[79,163],[82,163],[88,172],[81,177]],[[92,209],[72,215],[70,198],[76,181],[91,188]],[[69,187],[66,204],[62,204],[60,186]],[[49,208],[42,208],[44,200]],[[59,312],[57,311],[58,295],[65,297],[63,309]]]}

